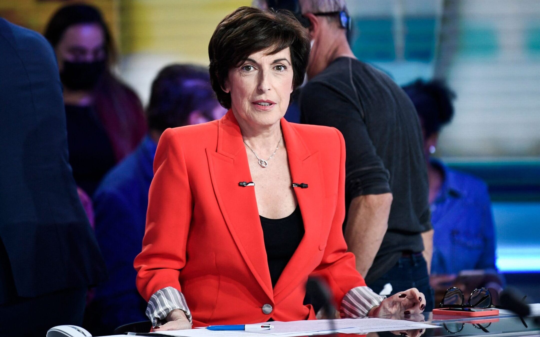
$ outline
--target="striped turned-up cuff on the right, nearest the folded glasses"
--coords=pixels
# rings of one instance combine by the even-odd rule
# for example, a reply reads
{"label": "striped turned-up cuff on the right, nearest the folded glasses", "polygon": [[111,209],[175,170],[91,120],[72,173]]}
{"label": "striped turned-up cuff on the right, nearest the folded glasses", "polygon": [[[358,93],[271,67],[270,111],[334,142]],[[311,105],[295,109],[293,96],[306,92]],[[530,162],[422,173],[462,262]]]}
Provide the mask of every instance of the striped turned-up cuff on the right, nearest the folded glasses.
{"label": "striped turned-up cuff on the right, nearest the folded glasses", "polygon": [[377,295],[369,287],[352,288],[341,301],[341,318],[366,317],[386,296]]}

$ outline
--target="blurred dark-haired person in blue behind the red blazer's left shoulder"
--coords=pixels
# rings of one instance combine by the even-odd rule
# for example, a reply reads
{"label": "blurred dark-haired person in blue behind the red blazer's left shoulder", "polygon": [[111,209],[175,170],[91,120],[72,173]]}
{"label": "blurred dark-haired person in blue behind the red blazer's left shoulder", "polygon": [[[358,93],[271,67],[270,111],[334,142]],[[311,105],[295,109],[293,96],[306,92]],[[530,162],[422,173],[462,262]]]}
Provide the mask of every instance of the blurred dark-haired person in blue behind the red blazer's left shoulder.
{"label": "blurred dark-haired person in blue behind the red blazer's left shoulder", "polygon": [[225,112],[213,96],[204,67],[170,65],[153,81],[146,113],[149,133],[107,173],[93,196],[96,237],[109,272],[109,281],[96,289],[89,308],[93,333],[111,334],[120,325],[147,320],[147,302],[135,286],[133,259],[143,242],[152,163],[161,133],[219,119]]}

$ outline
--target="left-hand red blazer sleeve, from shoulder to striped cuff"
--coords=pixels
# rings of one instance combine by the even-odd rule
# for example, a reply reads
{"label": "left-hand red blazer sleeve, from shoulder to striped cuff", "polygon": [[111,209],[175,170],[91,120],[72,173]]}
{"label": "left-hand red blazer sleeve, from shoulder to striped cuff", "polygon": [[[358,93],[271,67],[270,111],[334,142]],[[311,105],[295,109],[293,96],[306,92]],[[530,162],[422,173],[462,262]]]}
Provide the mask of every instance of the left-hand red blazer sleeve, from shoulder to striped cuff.
{"label": "left-hand red blazer sleeve, from shoulder to striped cuff", "polygon": [[192,195],[184,153],[175,130],[161,135],[154,159],[143,250],[134,260],[137,288],[146,301],[158,290],[181,291],[180,269],[186,264]]}

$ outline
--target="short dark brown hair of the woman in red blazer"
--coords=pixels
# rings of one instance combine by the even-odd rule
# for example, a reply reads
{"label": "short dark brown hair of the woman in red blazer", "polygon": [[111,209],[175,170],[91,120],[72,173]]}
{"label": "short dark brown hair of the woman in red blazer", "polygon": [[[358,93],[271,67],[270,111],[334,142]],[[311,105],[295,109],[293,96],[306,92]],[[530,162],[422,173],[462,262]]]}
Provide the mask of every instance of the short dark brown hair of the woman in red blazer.
{"label": "short dark brown hair of the woman in red blazer", "polygon": [[268,54],[274,54],[287,47],[296,88],[306,73],[310,45],[307,30],[292,12],[240,7],[221,20],[208,44],[210,81],[220,104],[231,108],[231,94],[222,90],[231,68],[253,53],[270,48]]}

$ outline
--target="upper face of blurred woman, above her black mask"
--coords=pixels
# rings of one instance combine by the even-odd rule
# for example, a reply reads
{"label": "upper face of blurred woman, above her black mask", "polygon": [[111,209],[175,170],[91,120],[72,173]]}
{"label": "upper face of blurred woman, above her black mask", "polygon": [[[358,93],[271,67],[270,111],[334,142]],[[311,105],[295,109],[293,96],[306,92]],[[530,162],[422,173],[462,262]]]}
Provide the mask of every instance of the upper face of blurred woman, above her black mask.
{"label": "upper face of blurred woman, above her black mask", "polygon": [[59,71],[62,72],[64,61],[102,61],[106,57],[105,48],[105,34],[98,24],[70,26],[55,49]]}

